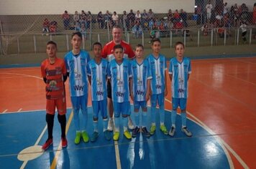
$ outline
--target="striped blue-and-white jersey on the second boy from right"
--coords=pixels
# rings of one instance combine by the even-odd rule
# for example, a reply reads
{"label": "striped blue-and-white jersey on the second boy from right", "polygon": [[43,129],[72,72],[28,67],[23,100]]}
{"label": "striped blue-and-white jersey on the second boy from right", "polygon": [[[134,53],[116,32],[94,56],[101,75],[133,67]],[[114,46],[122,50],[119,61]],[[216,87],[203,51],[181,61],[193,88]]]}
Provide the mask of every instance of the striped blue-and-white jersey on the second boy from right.
{"label": "striped blue-and-white jersey on the second boy from right", "polygon": [[165,92],[165,70],[167,69],[165,56],[159,54],[158,58],[155,58],[153,54],[147,57],[150,63],[150,71],[152,75],[151,90],[152,95],[158,95]]}

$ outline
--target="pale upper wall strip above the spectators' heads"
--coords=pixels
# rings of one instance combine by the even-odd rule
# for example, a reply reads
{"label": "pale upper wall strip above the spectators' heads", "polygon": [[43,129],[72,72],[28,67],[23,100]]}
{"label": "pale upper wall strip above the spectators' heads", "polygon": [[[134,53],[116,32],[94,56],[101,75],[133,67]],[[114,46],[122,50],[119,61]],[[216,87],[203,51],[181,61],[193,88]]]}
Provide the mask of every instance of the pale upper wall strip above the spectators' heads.
{"label": "pale upper wall strip above the spectators' heads", "polygon": [[195,0],[0,0],[0,15],[24,15],[24,14],[63,14],[65,10],[69,14],[75,11],[91,11],[98,14],[106,10],[133,11],[152,9],[155,13],[167,13],[168,9],[184,9],[187,12],[194,11]]}

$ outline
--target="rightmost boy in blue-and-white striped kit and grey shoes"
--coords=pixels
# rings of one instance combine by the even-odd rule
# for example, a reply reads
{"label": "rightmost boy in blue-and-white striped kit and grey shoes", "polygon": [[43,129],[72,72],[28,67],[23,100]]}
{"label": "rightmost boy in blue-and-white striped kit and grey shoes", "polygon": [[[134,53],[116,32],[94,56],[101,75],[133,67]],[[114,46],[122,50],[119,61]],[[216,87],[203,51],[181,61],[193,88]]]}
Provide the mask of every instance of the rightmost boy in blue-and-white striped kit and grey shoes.
{"label": "rightmost boy in blue-and-white striped kit and grey shoes", "polygon": [[186,124],[186,104],[188,98],[188,79],[191,74],[191,61],[184,57],[184,49],[184,44],[177,42],[175,44],[176,57],[170,59],[169,76],[170,82],[172,82],[173,110],[171,112],[172,127],[170,127],[169,135],[173,136],[175,134],[177,109],[180,107],[181,131],[188,137],[191,137],[192,133],[188,130]]}

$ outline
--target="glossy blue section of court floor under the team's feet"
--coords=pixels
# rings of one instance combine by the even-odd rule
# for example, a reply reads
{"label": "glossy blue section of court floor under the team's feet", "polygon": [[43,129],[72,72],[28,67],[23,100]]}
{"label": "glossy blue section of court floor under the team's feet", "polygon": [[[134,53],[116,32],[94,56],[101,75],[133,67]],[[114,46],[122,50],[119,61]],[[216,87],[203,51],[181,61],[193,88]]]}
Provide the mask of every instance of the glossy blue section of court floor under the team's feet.
{"label": "glossy blue section of court floor under the team's feet", "polygon": [[[83,143],[81,140],[79,145],[73,143],[75,126],[72,118],[73,113],[69,109],[68,147],[59,147],[60,125],[55,115],[53,146],[42,152],[41,145],[47,139],[45,111],[0,114],[0,168],[230,168],[233,165],[218,136],[211,135],[198,123],[188,120],[187,125],[193,136],[186,137],[180,131],[179,115],[174,137],[163,135],[158,123],[155,135],[150,138],[137,135],[127,140],[121,130],[116,143],[104,139],[99,117],[101,133],[96,143]],[[88,107],[90,135],[93,132],[92,123],[92,108]],[[165,111],[165,125],[169,130],[168,111]],[[26,148],[29,150],[27,153],[24,152]]]}

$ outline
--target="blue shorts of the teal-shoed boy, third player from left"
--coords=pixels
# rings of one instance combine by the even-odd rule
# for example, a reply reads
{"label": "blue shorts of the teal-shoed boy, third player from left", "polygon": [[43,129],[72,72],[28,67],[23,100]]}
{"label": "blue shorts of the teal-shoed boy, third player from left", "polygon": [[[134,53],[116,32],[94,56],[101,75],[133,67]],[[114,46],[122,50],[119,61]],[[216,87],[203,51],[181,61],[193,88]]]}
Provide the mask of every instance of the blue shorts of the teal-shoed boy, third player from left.
{"label": "blue shorts of the teal-shoed boy, third player from left", "polygon": [[107,101],[106,99],[101,101],[92,101],[93,105],[93,118],[99,118],[99,111],[101,111],[102,118],[106,119],[106,107],[107,107]]}

